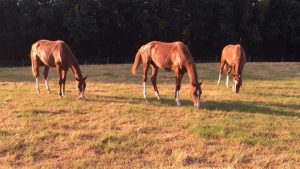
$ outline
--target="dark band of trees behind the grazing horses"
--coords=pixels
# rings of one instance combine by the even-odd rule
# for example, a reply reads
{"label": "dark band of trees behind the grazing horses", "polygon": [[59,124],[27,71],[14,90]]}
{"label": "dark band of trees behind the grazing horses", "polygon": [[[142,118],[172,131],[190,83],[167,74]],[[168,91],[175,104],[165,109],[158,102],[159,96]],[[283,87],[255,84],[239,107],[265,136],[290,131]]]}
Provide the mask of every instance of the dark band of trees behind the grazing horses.
{"label": "dark band of trees behind the grazing horses", "polygon": [[242,40],[250,61],[300,61],[300,0],[0,0],[0,65],[62,39],[81,63],[130,63],[152,40],[183,41],[199,62]]}

